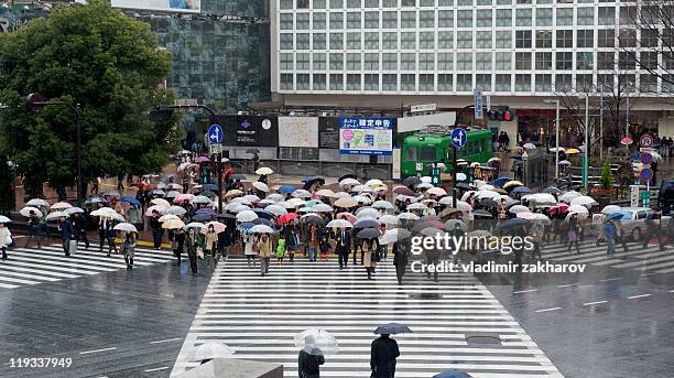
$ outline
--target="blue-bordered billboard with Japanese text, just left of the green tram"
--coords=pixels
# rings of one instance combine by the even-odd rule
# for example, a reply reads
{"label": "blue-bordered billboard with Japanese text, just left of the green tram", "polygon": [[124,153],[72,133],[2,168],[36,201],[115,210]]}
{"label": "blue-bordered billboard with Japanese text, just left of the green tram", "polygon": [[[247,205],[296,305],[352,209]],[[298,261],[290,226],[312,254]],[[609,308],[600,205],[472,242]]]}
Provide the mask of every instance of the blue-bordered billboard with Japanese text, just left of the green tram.
{"label": "blue-bordered billboard with Japanese text, just left of the green tram", "polygon": [[339,117],[339,153],[390,155],[393,150],[393,119]]}

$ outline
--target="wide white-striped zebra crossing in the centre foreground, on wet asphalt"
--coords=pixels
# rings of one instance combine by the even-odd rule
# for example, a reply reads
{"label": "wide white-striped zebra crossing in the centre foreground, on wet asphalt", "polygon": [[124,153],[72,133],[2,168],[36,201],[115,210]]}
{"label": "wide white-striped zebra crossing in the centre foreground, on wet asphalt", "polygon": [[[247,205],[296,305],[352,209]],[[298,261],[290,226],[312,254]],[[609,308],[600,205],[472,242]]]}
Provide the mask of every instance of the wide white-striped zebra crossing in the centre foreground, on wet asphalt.
{"label": "wide white-striped zebra crossing in the centre foreground, on wet asphalt", "polygon": [[[315,326],[330,332],[340,349],[326,356],[320,376],[365,378],[372,330],[396,321],[414,331],[395,337],[402,353],[396,377],[427,378],[450,368],[487,378],[562,377],[475,278],[447,274],[436,283],[407,273],[405,279],[398,285],[390,263],[380,263],[369,281],[361,266],[340,271],[334,260],[301,259],[272,263],[270,274],[260,277],[259,268],[230,257],[217,266],[171,376],[199,365],[188,360],[196,346],[217,342],[232,347],[235,358],[283,364],[284,376],[296,377],[294,336]],[[493,335],[500,345],[471,344],[469,335]]]}

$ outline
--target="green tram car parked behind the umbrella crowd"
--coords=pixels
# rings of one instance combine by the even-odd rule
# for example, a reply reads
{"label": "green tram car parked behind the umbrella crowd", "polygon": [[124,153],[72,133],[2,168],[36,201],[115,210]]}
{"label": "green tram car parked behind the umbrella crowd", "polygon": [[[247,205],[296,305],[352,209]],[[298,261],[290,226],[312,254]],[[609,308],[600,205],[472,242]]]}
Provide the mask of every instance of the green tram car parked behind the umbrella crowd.
{"label": "green tram car parked behind the umbrella crowd", "polygon": [[[466,128],[468,141],[458,149],[458,159],[486,163],[493,158],[492,133],[488,129]],[[445,172],[452,172],[454,160],[450,140],[452,129],[431,126],[426,130],[405,137],[400,156],[402,179],[431,175],[434,163],[444,163]]]}

